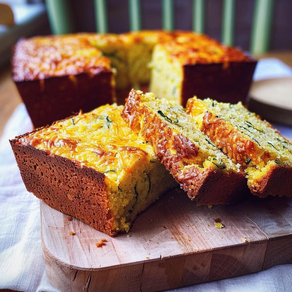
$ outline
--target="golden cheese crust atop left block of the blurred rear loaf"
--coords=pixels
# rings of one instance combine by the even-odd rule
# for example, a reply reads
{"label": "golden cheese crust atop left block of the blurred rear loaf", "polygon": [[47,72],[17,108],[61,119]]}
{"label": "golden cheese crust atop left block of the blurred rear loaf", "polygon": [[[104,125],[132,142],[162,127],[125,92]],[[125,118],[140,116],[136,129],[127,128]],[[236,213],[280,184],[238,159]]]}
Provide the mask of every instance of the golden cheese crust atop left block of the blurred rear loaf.
{"label": "golden cheese crust atop left block of the blurred rear loaf", "polygon": [[110,72],[110,60],[92,46],[88,34],[34,37],[14,48],[13,80],[28,81],[87,73]]}

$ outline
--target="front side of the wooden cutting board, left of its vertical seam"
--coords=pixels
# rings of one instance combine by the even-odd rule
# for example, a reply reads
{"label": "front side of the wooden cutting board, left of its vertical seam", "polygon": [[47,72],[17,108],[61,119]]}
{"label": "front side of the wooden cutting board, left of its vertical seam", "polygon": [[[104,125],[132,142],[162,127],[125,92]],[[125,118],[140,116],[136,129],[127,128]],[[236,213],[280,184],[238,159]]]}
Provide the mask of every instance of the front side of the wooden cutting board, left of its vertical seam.
{"label": "front side of the wooden cutting board, left of its vertical seam", "polygon": [[147,261],[121,269],[78,270],[44,253],[51,284],[61,291],[154,292],[262,270],[265,241],[187,256]]}

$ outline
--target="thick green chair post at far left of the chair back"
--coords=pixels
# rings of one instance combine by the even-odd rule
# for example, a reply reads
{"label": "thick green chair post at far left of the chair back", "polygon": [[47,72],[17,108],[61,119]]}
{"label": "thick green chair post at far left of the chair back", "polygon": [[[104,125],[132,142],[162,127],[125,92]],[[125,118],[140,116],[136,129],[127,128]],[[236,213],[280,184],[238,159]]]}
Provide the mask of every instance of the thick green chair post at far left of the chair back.
{"label": "thick green chair post at far left of the chair back", "polygon": [[46,8],[53,34],[74,32],[74,24],[67,0],[46,0]]}

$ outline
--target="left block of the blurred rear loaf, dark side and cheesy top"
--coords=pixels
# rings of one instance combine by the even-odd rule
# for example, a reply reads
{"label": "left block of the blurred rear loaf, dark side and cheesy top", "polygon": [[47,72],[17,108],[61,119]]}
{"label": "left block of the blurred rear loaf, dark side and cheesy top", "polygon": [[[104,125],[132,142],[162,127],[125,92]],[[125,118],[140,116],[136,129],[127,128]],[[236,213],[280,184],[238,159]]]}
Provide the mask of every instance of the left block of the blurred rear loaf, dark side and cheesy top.
{"label": "left block of the blurred rear loaf, dark side and cheesy top", "polygon": [[35,127],[114,101],[110,60],[86,34],[20,40],[12,71]]}

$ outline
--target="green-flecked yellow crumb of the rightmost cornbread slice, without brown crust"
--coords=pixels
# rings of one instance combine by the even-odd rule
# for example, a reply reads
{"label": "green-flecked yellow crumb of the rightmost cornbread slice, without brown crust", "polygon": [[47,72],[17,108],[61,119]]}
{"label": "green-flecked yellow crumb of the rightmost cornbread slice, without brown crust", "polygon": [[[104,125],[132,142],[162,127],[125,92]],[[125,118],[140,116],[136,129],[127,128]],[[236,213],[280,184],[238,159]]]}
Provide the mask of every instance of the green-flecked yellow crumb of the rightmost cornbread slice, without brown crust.
{"label": "green-flecked yellow crumb of the rightmost cornbread slice, without brown crust", "polygon": [[210,98],[200,100],[194,97],[190,114],[198,128],[202,126],[206,111],[228,121],[229,126],[239,131],[246,140],[255,142],[258,157],[246,157],[246,162],[242,164],[248,175],[249,186],[255,186],[272,166],[292,166],[291,143],[268,122],[248,111],[241,102],[233,105]]}

